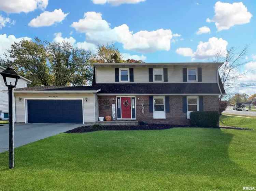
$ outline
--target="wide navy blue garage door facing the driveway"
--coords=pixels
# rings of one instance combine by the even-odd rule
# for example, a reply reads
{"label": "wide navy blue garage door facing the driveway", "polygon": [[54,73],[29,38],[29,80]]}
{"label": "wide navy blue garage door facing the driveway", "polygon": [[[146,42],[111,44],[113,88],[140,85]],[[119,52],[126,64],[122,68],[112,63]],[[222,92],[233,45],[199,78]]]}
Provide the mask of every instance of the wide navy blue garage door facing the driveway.
{"label": "wide navy blue garage door facing the driveway", "polygon": [[82,100],[28,100],[28,123],[83,123]]}

